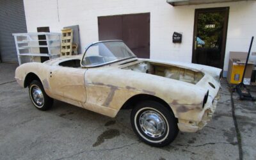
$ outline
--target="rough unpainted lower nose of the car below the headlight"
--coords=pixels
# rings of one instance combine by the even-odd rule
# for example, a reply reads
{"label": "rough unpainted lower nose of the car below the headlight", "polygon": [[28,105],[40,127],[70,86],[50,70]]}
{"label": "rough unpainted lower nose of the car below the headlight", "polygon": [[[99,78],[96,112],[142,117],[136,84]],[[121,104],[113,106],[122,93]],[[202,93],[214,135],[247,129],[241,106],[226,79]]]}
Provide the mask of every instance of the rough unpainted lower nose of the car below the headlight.
{"label": "rough unpainted lower nose of the car below the headlight", "polygon": [[214,111],[216,110],[218,100],[220,99],[220,94],[218,93],[216,97],[212,100],[212,103],[205,107],[202,119],[200,122],[192,122],[189,120],[179,120],[178,127],[182,132],[196,132],[202,129],[207,122],[212,119]]}

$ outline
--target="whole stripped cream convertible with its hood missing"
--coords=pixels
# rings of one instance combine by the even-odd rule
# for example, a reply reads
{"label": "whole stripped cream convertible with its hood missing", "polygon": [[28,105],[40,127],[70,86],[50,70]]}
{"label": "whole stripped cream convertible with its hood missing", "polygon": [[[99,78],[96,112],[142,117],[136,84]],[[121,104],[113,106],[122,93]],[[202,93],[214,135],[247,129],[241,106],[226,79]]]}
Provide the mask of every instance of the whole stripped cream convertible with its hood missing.
{"label": "whole stripped cream convertible with its hood missing", "polygon": [[15,79],[40,110],[51,108],[53,99],[110,117],[132,109],[138,137],[163,147],[179,131],[196,132],[211,119],[220,75],[221,69],[204,65],[139,59],[121,40],[108,40],[81,56],[24,63]]}

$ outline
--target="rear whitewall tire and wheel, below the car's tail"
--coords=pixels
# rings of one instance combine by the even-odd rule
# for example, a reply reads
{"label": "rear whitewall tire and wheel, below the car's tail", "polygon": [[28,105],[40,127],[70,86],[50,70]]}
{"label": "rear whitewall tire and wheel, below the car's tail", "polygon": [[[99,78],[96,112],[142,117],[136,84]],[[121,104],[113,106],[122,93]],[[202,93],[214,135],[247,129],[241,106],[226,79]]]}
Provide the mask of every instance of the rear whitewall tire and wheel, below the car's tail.
{"label": "rear whitewall tire and wheel, below the car's tail", "polygon": [[45,93],[42,83],[36,80],[29,84],[29,97],[34,106],[42,111],[51,108],[53,103],[53,99]]}

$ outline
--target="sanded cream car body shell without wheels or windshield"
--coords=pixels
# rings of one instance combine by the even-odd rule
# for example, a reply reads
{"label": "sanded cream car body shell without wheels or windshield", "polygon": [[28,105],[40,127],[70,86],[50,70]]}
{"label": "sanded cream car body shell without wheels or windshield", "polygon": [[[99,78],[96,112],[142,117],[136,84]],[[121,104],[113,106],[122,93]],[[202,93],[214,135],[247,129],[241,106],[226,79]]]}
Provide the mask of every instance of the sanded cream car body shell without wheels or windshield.
{"label": "sanded cream car body shell without wheels or windshield", "polygon": [[[25,63],[17,68],[15,79],[25,87],[26,76],[33,73],[39,77],[49,97],[111,117],[115,117],[130,98],[152,95],[168,104],[179,121],[180,131],[184,132],[202,129],[216,109],[221,73],[218,68],[138,58],[92,68],[59,65],[80,59],[81,56],[68,56],[45,63]],[[147,67],[154,65],[162,68],[155,67],[154,71],[148,68],[148,72]],[[162,76],[161,70],[164,70]]]}

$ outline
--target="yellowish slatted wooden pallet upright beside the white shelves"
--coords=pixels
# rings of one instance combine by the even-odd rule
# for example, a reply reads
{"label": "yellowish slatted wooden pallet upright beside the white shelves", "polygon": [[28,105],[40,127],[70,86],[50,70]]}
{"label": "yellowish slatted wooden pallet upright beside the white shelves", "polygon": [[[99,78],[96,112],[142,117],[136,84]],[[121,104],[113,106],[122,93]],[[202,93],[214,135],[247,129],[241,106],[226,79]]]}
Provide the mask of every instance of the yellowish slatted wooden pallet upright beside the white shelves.
{"label": "yellowish slatted wooden pallet upright beside the white shelves", "polygon": [[61,33],[61,56],[72,56],[73,29],[62,29]]}

